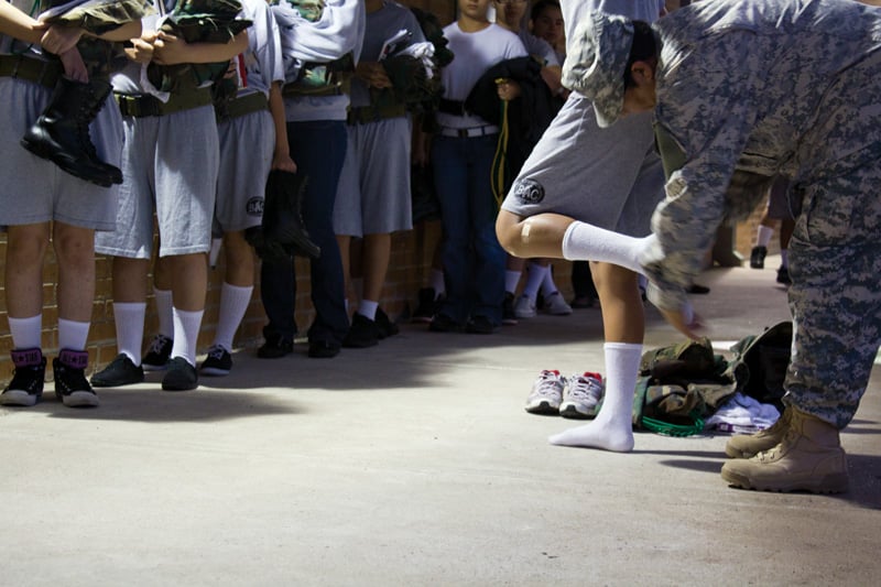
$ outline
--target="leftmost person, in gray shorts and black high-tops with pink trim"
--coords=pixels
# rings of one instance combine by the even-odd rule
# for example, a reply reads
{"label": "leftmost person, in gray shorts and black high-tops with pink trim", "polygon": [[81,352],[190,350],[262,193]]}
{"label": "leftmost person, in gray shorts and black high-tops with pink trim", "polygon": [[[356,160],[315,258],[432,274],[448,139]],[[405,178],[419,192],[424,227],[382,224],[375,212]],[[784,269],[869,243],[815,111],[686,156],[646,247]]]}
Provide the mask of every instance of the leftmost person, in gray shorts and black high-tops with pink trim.
{"label": "leftmost person, in gray shorts and black high-tops with pink trim", "polygon": [[[3,283],[15,368],[0,404],[31,406],[42,398],[46,358],[41,292],[46,283],[43,263],[53,247],[58,271],[58,355],[52,361],[55,394],[70,407],[96,406],[98,396],[85,377],[95,297],[94,241],[96,230],[116,229],[117,189],[72,180],[22,149],[19,140],[45,110],[63,76],[62,63],[66,67],[79,61],[93,73],[107,72],[109,64],[93,62],[97,51],[84,51],[85,59],[80,59],[75,45],[83,32],[40,23],[26,12],[31,8],[31,0],[0,2],[0,102],[8,110],[0,119],[0,227],[7,231]],[[107,41],[138,34],[140,21],[128,22],[100,39],[83,40],[80,46],[90,43],[107,50]],[[47,52],[59,55],[61,62]],[[79,74],[85,72],[79,69]],[[101,108],[94,128],[98,131],[96,150],[113,161],[122,142],[119,110]]]}

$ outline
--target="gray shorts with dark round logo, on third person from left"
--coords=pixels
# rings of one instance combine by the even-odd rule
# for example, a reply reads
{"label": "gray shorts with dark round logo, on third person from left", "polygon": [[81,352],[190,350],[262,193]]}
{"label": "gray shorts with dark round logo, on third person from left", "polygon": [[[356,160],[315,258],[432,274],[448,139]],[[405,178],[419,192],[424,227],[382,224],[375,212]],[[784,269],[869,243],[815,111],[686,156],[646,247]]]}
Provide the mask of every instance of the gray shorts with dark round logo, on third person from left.
{"label": "gray shorts with dark round logo, on third person from left", "polygon": [[275,151],[275,128],[269,110],[251,112],[217,126],[220,171],[214,236],[260,226],[267,177]]}

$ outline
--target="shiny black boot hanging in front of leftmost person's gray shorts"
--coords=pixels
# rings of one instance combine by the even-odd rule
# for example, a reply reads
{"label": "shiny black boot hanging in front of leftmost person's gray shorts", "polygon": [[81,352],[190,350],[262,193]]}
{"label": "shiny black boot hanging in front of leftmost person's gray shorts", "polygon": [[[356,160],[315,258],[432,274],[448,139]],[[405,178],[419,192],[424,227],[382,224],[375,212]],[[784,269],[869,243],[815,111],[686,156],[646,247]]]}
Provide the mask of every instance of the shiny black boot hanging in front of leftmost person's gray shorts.
{"label": "shiny black boot hanging in front of leftmost person's gray shorts", "polygon": [[89,123],[109,94],[107,83],[59,78],[48,106],[22,137],[22,146],[80,180],[101,187],[121,184],[122,172],[98,160],[89,137]]}

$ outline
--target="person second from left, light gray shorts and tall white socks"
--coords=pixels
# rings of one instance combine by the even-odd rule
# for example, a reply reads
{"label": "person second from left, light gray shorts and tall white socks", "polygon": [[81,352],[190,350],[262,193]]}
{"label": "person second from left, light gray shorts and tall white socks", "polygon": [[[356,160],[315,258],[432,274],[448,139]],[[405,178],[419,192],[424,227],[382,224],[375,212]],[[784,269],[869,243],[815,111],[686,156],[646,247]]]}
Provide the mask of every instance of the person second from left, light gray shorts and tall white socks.
{"label": "person second from left, light gray shorts and tall white socks", "polygon": [[[225,1],[225,6],[229,0]],[[173,343],[162,379],[165,391],[198,387],[196,343],[208,289],[219,146],[210,84],[181,83],[166,95],[142,75],[161,65],[220,64],[248,46],[248,34],[225,42],[194,42],[160,31],[160,17],[173,0],[155,0],[160,13],[143,19],[144,32],[131,41],[128,65],[112,78],[123,115],[126,170],[117,222],[124,230],[99,235],[96,250],[112,257],[113,318],[119,355],[91,377],[95,387],[143,381],[141,346],[153,249],[153,217],[159,225],[159,257],[166,258],[173,301]],[[182,68],[186,72],[186,68]],[[178,79],[181,81],[181,79]],[[192,139],[198,137],[198,144]]]}

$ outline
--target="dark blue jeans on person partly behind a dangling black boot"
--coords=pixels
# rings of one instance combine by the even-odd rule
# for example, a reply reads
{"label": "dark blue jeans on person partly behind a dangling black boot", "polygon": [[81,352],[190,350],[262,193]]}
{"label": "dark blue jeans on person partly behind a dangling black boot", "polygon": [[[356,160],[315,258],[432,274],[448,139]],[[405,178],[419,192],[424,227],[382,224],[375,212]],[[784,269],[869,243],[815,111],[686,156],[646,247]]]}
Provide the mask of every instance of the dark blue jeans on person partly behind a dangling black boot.
{"label": "dark blue jeans on person partly behind a dangling black boot", "polygon": [[[311,343],[339,346],[349,330],[345,304],[345,281],[339,246],[334,233],[334,202],[346,157],[346,123],[341,120],[289,122],[287,142],[297,173],[308,177],[303,194],[303,221],[322,256],[312,261],[312,303],[315,322],[309,327]],[[263,333],[292,340],[297,333],[294,320],[296,275],[293,260],[267,263],[260,271],[260,295],[269,324]]]}

